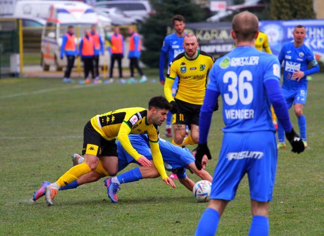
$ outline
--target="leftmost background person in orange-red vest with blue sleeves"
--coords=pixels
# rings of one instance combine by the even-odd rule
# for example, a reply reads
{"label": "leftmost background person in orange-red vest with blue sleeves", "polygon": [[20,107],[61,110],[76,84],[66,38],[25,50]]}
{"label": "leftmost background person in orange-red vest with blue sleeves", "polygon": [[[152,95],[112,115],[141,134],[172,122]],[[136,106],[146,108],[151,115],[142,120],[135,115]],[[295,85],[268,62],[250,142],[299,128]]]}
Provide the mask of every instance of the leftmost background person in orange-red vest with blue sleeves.
{"label": "leftmost background person in orange-red vest with blue sleeves", "polygon": [[72,25],[67,27],[67,32],[63,35],[63,41],[61,46],[60,58],[66,56],[67,66],[64,72],[63,83],[73,83],[74,81],[70,79],[71,70],[74,65],[75,56],[77,55],[74,28]]}

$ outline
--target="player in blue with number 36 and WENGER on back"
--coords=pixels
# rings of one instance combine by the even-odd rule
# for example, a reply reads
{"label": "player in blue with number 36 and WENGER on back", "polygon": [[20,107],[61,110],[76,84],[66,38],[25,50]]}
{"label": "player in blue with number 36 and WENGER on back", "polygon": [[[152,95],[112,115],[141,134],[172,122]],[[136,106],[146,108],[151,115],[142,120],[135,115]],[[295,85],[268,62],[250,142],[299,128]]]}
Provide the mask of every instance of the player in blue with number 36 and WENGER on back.
{"label": "player in blue with number 36 and WENGER on back", "polygon": [[223,101],[225,127],[213,176],[211,201],[200,218],[196,235],[215,235],[219,218],[234,199],[238,184],[246,173],[253,215],[249,235],[268,235],[268,205],[272,200],[277,164],[270,104],[286,131],[292,151],[304,151],[280,91],[278,59],[255,49],[258,25],[258,18],[250,12],[235,15],[231,35],[236,48],[218,59],[209,73],[210,81],[199,115],[198,169],[203,155],[212,158],[207,137],[219,95]]}

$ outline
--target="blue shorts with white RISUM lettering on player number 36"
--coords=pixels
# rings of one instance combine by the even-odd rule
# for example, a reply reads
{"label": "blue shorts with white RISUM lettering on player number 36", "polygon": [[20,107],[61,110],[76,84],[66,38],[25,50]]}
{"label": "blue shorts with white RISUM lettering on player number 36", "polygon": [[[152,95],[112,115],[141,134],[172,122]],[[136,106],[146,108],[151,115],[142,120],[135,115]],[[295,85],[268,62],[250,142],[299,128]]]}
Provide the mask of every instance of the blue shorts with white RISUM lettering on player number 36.
{"label": "blue shorts with white RISUM lettering on player number 36", "polygon": [[215,168],[210,198],[233,200],[239,182],[247,173],[251,199],[271,201],[276,165],[274,132],[227,132]]}

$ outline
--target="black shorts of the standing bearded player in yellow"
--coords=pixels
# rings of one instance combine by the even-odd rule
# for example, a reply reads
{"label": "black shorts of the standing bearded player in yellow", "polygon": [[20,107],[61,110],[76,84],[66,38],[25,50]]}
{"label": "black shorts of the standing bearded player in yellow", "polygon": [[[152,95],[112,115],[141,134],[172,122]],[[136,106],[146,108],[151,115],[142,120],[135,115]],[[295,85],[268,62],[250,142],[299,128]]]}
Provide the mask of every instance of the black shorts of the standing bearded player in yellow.
{"label": "black shorts of the standing bearded player in yellow", "polygon": [[201,105],[191,104],[175,99],[178,113],[173,115],[173,124],[198,125]]}

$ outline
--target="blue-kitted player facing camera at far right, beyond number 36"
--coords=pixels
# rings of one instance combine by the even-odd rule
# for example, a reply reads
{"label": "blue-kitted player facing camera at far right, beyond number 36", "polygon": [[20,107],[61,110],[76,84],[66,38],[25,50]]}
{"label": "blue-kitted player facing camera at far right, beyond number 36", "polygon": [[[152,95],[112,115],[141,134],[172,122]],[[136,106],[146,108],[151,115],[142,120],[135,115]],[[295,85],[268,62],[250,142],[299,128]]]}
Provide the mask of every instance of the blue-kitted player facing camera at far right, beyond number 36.
{"label": "blue-kitted player facing camera at far right, beyond number 36", "polygon": [[[280,64],[284,62],[282,93],[284,93],[288,108],[295,105],[294,111],[298,120],[300,136],[307,148],[306,118],[303,113],[307,98],[307,75],[318,72],[319,66],[313,52],[304,44],[305,27],[297,25],[293,35],[294,42],[285,44],[278,56]],[[310,69],[308,69],[309,65]],[[278,123],[278,141],[277,148],[286,148],[284,129],[280,123]]]}

